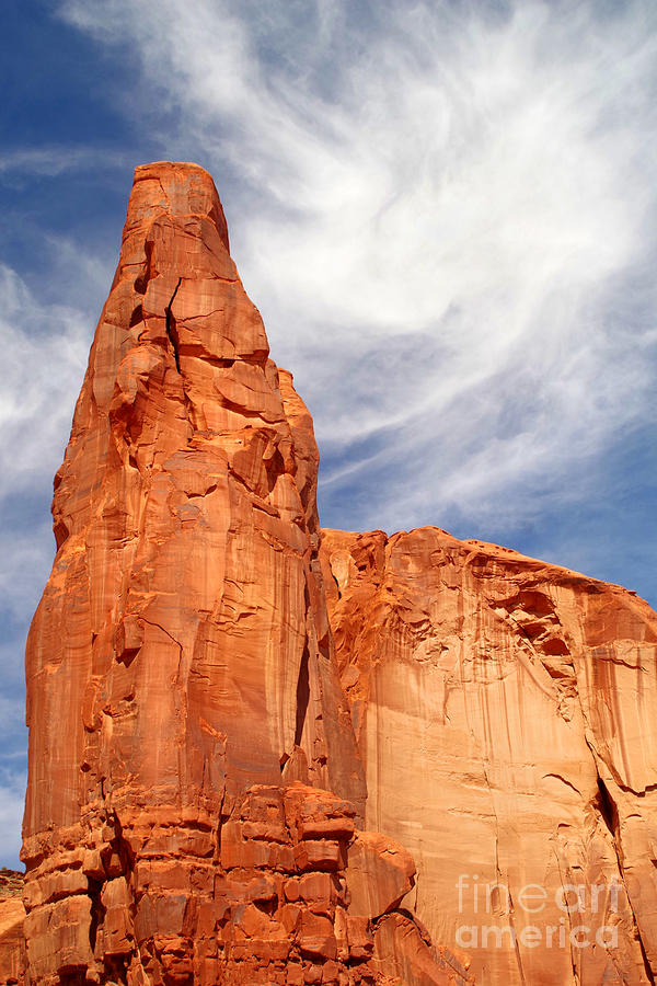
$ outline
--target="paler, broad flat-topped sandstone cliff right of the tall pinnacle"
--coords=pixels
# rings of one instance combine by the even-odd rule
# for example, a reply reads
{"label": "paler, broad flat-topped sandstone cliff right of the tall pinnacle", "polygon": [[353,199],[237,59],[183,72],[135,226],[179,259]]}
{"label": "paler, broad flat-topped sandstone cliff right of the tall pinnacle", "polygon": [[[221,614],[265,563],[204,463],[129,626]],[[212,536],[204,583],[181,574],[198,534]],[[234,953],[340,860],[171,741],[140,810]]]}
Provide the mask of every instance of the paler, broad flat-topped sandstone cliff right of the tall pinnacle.
{"label": "paler, broad flat-topped sandstone cliff right of the tall pinnacle", "polygon": [[435,940],[477,983],[652,983],[657,616],[436,528],[324,531],[322,560],[367,827]]}

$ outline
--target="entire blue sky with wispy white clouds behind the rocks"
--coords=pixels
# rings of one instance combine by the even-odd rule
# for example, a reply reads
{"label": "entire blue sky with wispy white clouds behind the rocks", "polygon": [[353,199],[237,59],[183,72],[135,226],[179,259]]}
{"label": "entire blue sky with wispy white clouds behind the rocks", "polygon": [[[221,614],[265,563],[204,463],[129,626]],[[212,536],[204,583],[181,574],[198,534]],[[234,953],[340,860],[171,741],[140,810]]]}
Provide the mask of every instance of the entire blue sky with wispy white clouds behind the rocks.
{"label": "entire blue sky with wispy white clouds behind the rocks", "polygon": [[214,175],[324,526],[435,524],[657,603],[657,8],[4,0],[0,863],[51,478],[132,169]]}

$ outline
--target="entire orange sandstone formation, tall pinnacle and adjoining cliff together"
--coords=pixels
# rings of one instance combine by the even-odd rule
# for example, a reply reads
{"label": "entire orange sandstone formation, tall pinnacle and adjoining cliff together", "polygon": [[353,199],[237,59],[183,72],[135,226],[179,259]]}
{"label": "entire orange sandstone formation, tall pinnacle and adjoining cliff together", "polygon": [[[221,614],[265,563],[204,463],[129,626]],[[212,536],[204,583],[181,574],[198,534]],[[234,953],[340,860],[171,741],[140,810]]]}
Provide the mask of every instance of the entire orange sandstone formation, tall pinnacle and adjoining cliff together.
{"label": "entire orange sandstone formation, tall pinnacle and adjoining cliff together", "polygon": [[0,983],[652,983],[657,617],[436,528],[322,532],[318,463],[210,176],[138,168],[55,479]]}

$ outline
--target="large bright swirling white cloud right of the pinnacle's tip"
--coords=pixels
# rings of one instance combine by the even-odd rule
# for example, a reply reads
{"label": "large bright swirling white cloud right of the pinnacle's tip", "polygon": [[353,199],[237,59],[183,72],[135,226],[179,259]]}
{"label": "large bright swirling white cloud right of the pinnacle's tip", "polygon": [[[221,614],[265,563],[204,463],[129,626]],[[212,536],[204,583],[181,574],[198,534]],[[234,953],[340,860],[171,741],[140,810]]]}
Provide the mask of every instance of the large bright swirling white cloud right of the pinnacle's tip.
{"label": "large bright swirling white cloud right of the pinnacle's tip", "polygon": [[655,386],[654,4],[62,12],[137,47],[169,156],[238,175],[233,253],[349,521],[584,491]]}

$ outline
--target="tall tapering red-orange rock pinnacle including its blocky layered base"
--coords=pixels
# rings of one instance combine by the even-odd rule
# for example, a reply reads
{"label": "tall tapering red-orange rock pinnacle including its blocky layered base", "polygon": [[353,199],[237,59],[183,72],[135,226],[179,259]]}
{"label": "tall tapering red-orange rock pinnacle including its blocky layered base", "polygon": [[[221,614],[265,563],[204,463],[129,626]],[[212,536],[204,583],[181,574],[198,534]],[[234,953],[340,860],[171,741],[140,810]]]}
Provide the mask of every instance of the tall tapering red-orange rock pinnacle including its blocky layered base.
{"label": "tall tapering red-orange rock pinnacle including its blocky layered base", "polygon": [[359,834],[318,454],[209,175],[138,168],[26,652],[30,983],[463,983]]}

